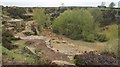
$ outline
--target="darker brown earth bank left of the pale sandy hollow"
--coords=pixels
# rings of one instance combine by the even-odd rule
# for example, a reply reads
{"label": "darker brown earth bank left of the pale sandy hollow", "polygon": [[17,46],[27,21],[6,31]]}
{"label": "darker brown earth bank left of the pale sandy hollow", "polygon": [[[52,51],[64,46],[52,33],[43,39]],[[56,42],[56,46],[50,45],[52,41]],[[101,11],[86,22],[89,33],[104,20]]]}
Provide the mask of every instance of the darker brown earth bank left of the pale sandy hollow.
{"label": "darker brown earth bank left of the pale sandy hollow", "polygon": [[34,40],[26,40],[27,42],[29,41],[31,44],[26,44],[29,47],[34,47],[35,49],[40,49],[41,50],[41,55],[44,57],[46,60],[64,60],[64,61],[69,61],[69,58],[59,52],[55,52],[48,48],[46,46],[46,43],[44,40],[39,40],[39,39],[34,39]]}

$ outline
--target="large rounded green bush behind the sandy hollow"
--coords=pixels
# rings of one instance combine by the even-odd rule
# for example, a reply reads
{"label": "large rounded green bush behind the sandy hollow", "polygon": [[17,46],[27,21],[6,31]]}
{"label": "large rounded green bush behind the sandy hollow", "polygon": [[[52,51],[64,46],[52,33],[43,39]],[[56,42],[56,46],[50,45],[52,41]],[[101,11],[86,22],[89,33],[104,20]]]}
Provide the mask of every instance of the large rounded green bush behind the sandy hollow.
{"label": "large rounded green bush behind the sandy hollow", "polygon": [[89,11],[67,10],[55,19],[53,31],[72,39],[94,41],[95,25],[97,24]]}

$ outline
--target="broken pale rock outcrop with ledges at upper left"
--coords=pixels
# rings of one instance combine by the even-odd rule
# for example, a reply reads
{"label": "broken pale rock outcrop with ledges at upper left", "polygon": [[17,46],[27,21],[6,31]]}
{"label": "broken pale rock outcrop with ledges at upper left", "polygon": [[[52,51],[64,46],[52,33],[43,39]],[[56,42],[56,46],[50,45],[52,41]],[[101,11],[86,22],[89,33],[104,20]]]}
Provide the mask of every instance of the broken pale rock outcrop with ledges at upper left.
{"label": "broken pale rock outcrop with ledges at upper left", "polygon": [[4,26],[14,34],[18,32],[22,32],[26,36],[40,34],[39,25],[34,21],[25,22],[22,19],[11,19],[6,21]]}

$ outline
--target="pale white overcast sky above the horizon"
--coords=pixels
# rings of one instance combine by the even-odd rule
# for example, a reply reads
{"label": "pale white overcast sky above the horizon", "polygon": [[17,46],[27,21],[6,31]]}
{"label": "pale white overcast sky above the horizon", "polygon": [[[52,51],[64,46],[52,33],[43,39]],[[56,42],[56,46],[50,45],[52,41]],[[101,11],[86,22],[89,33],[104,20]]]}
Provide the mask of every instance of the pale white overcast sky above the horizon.
{"label": "pale white overcast sky above the horizon", "polygon": [[22,7],[58,7],[61,3],[64,6],[98,6],[101,2],[105,2],[108,6],[111,2],[118,7],[120,0],[0,0],[0,5],[4,6],[22,6]]}

